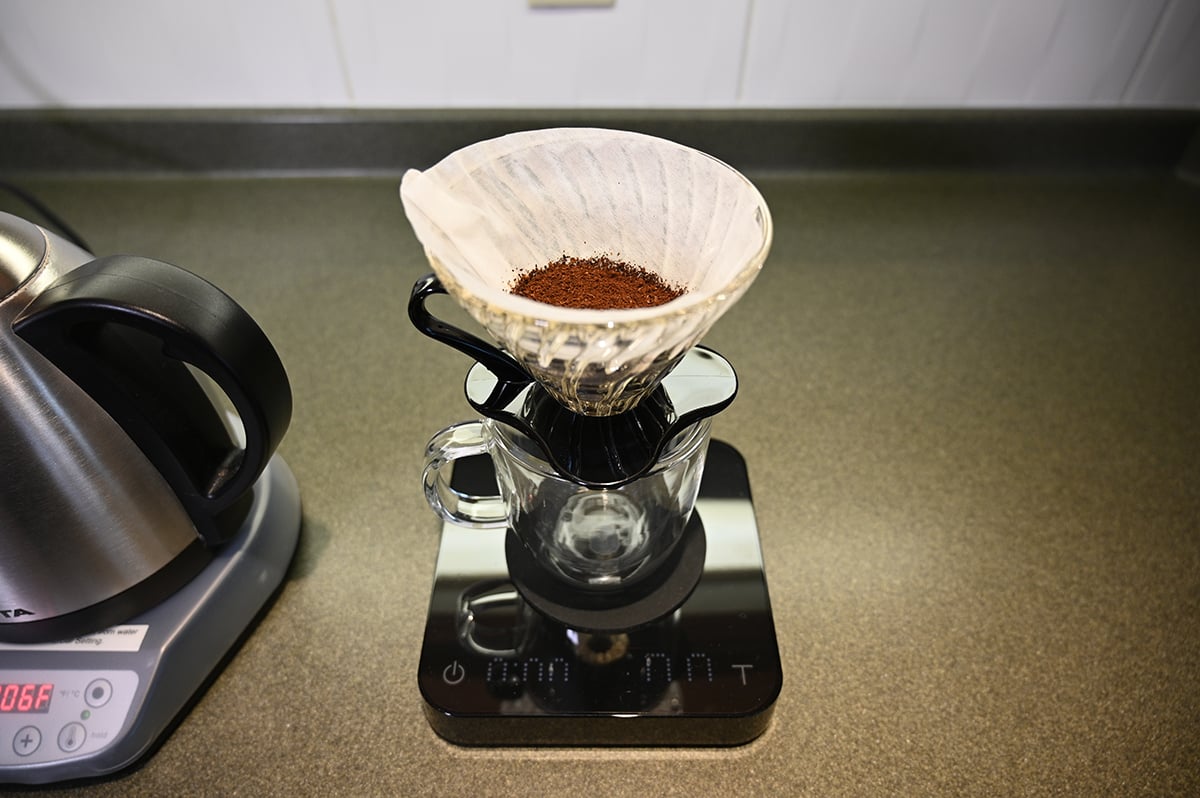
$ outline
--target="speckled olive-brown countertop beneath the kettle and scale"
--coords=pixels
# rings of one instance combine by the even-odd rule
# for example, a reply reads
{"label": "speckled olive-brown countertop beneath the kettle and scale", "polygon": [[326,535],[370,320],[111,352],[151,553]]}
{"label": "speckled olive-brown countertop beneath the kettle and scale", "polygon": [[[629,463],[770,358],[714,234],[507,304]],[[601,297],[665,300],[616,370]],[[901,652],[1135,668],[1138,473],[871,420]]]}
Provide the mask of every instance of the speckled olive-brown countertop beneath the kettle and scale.
{"label": "speckled olive-brown countertop beneath the kettle and scale", "polygon": [[97,252],[256,316],[305,512],[274,608],[162,748],[65,794],[1195,794],[1200,190],[751,178],[775,246],[704,342],[740,377],[714,434],[749,463],[785,688],[721,750],[460,749],[426,725],[421,450],[469,418],[468,361],[408,324],[427,266],[395,175],[23,181]]}

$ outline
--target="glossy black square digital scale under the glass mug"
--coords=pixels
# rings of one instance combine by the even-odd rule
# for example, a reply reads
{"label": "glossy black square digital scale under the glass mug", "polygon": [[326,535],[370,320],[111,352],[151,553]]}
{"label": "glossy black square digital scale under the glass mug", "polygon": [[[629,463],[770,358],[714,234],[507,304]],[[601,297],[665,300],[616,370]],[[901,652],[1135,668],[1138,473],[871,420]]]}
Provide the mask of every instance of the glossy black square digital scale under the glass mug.
{"label": "glossy black square digital scale under the glass mug", "polygon": [[[491,496],[491,461],[451,486]],[[509,578],[505,529],[445,523],[418,683],[462,745],[736,745],[768,726],[782,672],[745,462],[709,444],[696,515],[703,575],[672,614],[624,632],[550,620]]]}

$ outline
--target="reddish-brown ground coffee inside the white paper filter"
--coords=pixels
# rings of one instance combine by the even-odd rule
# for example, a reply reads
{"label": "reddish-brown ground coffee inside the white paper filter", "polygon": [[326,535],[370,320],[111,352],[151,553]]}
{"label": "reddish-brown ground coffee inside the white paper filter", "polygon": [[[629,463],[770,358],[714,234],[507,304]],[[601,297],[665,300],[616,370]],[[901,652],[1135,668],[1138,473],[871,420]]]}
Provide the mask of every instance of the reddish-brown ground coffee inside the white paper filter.
{"label": "reddish-brown ground coffee inside the white paper filter", "polygon": [[666,305],[683,295],[661,277],[608,256],[563,256],[518,276],[510,290],[547,305],[594,311],[617,311]]}

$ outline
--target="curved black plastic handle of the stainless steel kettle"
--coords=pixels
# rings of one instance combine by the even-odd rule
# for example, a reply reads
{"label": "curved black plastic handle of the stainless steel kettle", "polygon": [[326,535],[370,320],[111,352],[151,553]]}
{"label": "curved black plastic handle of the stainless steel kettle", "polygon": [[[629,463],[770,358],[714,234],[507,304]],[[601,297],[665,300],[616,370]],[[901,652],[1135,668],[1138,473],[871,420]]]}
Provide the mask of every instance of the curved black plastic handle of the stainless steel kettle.
{"label": "curved black plastic handle of the stainless steel kettle", "polygon": [[[292,389],[258,324],[205,280],[134,256],[97,258],[43,290],[13,330],[86,391],[175,491],[209,545],[240,523],[292,419]],[[229,440],[190,364],[224,391],[245,427]],[[218,430],[218,431],[217,431]]]}

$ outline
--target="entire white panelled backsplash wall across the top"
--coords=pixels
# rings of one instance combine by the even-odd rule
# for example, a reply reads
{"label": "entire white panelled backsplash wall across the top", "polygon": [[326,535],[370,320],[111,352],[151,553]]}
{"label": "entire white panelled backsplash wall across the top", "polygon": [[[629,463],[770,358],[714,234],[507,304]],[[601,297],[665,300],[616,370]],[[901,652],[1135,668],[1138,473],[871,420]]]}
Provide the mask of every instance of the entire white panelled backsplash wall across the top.
{"label": "entire white panelled backsplash wall across the top", "polygon": [[1200,107],[1200,0],[0,0],[0,108]]}

